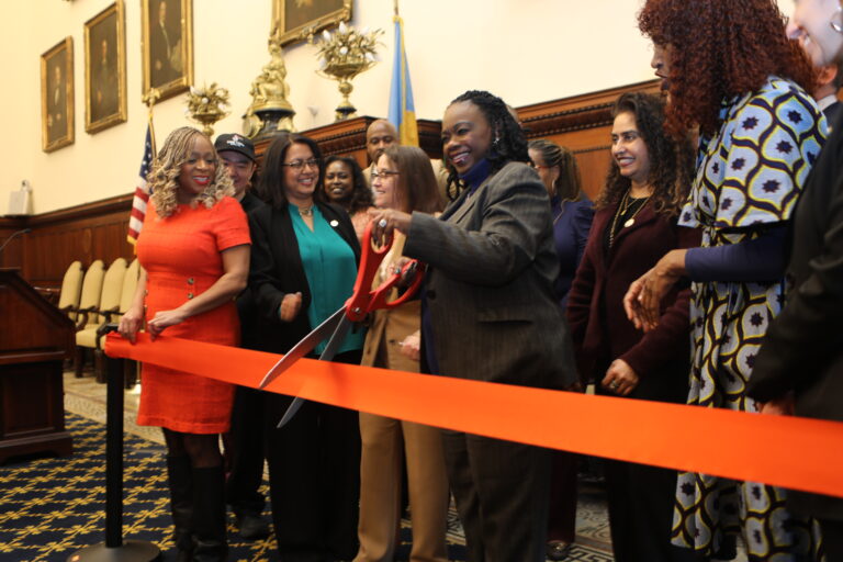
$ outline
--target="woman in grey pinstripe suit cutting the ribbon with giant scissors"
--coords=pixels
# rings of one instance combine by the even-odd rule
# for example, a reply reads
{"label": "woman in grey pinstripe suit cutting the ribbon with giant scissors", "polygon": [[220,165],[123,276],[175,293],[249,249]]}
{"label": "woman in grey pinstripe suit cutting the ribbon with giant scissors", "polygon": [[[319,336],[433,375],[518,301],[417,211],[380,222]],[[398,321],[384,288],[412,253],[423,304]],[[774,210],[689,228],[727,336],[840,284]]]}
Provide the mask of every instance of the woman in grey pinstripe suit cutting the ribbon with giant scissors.
{"label": "woman in grey pinstripe suit cutting the ribbon with giant scissors", "polygon": [[[506,104],[468,91],[445,112],[442,148],[456,200],[441,216],[373,212],[375,232],[406,235],[428,265],[422,291],[423,371],[505,384],[565,387],[575,373],[553,294],[559,260],[548,192],[526,162]],[[469,560],[543,561],[546,449],[443,431],[451,492]]]}

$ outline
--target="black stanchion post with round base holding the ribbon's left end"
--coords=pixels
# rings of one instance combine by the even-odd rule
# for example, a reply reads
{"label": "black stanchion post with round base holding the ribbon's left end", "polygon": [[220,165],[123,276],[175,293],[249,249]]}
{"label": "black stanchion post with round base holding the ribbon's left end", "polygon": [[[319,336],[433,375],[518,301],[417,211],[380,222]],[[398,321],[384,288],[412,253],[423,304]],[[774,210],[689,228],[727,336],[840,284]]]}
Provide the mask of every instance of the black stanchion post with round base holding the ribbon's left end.
{"label": "black stanchion post with round base holding the ribbon's left end", "polygon": [[[97,331],[98,340],[116,324]],[[123,540],[123,362],[105,356],[105,542],[70,554],[68,562],[156,562],[161,551],[151,542]]]}

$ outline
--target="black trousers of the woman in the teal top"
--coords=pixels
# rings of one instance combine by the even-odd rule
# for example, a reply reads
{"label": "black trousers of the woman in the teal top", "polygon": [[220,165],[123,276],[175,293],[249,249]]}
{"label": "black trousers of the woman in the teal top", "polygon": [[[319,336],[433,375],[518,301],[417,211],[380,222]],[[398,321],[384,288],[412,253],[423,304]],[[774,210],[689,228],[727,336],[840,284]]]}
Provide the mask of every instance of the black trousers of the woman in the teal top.
{"label": "black trousers of the woman in the teal top", "polygon": [[[360,352],[335,361],[360,362]],[[290,396],[266,403],[272,524],[282,562],[352,560],[360,499],[360,426],[357,412],[306,402],[281,429]]]}

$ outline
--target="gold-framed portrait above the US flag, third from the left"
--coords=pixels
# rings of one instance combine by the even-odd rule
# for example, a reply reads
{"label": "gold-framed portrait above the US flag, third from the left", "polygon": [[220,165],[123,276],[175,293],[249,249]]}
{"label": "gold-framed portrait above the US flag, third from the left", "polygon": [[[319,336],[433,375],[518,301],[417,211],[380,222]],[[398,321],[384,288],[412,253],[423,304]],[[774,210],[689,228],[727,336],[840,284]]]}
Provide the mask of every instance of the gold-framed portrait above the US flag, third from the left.
{"label": "gold-framed portrait above the US flag, third from the left", "polygon": [[[164,15],[161,9],[164,8]],[[143,94],[158,101],[193,83],[193,0],[140,0]]]}

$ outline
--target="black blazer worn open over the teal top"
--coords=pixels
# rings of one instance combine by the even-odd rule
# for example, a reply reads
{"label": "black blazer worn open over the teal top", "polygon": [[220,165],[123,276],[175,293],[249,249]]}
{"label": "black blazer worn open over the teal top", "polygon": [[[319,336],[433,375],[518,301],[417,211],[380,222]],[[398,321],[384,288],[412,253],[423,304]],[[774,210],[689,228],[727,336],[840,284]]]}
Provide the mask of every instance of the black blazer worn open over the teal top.
{"label": "black blazer worn open over the teal top", "polygon": [[[360,261],[360,244],[345,209],[333,203],[316,203],[325,220],[355,251]],[[335,224],[336,223],[336,224]],[[260,335],[256,349],[285,353],[315,326],[307,321],[311,290],[299,254],[299,240],[286,206],[269,205],[249,214],[251,270],[249,289],[260,314]],[[281,322],[278,308],[286,293],[302,293],[302,310],[292,322]]]}

